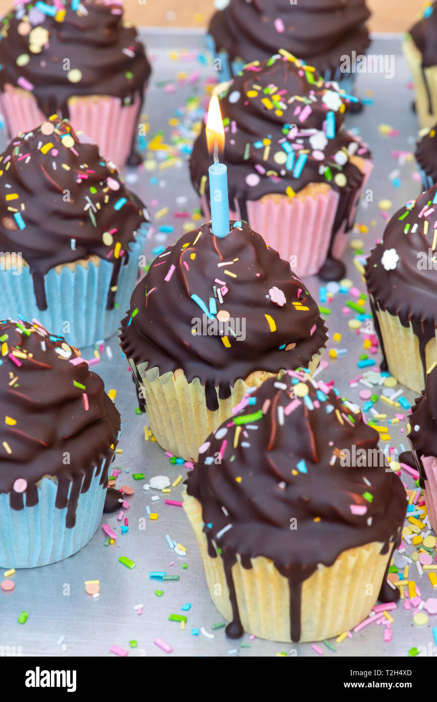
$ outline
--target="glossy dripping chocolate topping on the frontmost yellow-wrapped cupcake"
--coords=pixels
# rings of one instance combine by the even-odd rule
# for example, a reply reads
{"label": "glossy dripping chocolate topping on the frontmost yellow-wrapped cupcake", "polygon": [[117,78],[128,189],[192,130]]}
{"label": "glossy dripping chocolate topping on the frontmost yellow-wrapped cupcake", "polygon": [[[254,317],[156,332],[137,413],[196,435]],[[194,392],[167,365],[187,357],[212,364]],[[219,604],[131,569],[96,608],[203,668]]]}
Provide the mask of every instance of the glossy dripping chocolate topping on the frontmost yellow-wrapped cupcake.
{"label": "glossy dripping chocolate topping on the frontmost yellow-wrapped cupcake", "polygon": [[[349,548],[401,541],[405,490],[386,472],[377,432],[358,407],[301,371],[270,378],[199,449],[187,492],[202,505],[210,557],[224,561],[233,621],[243,633],[231,569],[236,555],[272,559],[290,583],[290,637],[300,640],[302,583]],[[215,457],[220,456],[217,465]],[[398,594],[386,583],[379,598]]]}

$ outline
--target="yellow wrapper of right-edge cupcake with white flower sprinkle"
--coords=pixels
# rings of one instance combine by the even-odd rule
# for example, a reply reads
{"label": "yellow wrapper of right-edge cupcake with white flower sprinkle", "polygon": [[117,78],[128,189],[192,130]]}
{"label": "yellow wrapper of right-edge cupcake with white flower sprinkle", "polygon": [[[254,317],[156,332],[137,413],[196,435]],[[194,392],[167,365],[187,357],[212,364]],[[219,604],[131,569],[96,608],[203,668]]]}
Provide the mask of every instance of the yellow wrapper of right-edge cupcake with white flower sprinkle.
{"label": "yellow wrapper of right-edge cupcake with white flower sprinkle", "polygon": [[[425,387],[424,369],[419,352],[419,339],[412,326],[403,326],[398,317],[377,310],[384,353],[392,376],[419,394]],[[437,335],[425,347],[425,367],[428,369],[437,360]]]}

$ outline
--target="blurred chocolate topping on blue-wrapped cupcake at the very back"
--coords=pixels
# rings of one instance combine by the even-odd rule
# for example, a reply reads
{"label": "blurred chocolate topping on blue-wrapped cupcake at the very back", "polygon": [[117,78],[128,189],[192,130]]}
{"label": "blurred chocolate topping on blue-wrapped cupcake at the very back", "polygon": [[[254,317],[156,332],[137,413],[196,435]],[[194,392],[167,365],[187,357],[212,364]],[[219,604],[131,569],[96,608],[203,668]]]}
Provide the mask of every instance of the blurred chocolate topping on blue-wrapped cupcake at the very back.
{"label": "blurred chocolate topping on blue-wrapped cupcake at the very back", "polygon": [[344,55],[370,44],[364,0],[231,0],[215,13],[209,32],[229,58],[264,60],[283,46],[318,72],[335,72]]}

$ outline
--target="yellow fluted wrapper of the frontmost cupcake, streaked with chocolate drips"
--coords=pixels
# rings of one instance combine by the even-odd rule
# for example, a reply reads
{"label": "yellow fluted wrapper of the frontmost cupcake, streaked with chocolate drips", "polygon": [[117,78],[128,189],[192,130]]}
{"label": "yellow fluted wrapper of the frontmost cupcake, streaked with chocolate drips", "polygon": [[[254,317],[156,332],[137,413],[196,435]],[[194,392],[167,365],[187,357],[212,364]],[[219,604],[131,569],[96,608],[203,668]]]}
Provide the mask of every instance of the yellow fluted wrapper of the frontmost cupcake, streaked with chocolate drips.
{"label": "yellow fluted wrapper of the frontmost cupcake, streaked with chocolate drips", "polygon": [[[208,555],[203,534],[202,508],[199,501],[184,493],[187,512],[199,544],[203,568],[211,599],[220,614],[232,620],[229,589],[220,556]],[[381,555],[382,543],[368,543],[342,552],[335,563],[318,569],[302,585],[300,642],[322,641],[348,631],[359,624],[375,606],[385,569],[391,555]],[[291,642],[290,587],[274,566],[262,556],[251,560],[246,569],[237,562],[232,577],[243,629],[271,641]]]}

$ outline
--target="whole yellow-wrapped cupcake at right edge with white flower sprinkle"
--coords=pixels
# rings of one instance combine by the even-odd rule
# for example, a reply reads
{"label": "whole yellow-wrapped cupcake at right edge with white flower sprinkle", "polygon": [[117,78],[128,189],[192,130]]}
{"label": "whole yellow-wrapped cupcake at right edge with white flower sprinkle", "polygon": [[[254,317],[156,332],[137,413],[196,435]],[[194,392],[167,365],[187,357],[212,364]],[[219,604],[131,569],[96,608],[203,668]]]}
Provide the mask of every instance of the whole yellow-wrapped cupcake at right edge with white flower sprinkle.
{"label": "whole yellow-wrapped cupcake at right edge with white flower sprinkle", "polygon": [[381,368],[415,392],[437,359],[435,203],[437,185],[396,212],[365,265]]}

